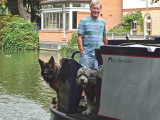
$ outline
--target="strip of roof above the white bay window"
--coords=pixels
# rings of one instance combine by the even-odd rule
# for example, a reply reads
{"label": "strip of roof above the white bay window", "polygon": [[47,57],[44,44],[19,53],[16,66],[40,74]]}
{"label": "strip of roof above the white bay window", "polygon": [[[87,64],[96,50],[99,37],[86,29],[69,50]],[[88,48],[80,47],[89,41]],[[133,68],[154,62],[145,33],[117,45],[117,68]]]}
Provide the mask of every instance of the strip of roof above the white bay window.
{"label": "strip of roof above the white bay window", "polygon": [[80,2],[80,3],[90,3],[92,0],[45,0],[42,1],[40,4],[53,4],[53,3],[69,3],[69,2]]}

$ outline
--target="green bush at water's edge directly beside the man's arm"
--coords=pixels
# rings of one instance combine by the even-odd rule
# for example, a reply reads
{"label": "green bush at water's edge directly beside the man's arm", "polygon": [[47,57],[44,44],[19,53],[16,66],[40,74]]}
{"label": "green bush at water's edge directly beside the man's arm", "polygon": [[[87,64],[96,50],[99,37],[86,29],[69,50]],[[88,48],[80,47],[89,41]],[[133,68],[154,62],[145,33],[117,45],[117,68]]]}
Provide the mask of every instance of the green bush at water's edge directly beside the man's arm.
{"label": "green bush at water's edge directly beside the man's arm", "polygon": [[71,54],[78,50],[77,46],[77,33],[72,33],[72,38],[69,40],[67,45],[64,45],[60,49],[60,54],[63,57],[71,57]]}

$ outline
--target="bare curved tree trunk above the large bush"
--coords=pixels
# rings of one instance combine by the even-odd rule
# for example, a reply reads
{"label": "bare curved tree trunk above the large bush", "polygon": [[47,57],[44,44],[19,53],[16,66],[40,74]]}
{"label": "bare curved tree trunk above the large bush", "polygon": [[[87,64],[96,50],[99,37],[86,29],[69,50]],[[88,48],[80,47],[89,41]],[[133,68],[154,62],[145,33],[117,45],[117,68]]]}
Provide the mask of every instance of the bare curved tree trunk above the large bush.
{"label": "bare curved tree trunk above the large bush", "polygon": [[31,15],[25,11],[23,0],[18,0],[18,9],[19,9],[20,17],[31,22]]}

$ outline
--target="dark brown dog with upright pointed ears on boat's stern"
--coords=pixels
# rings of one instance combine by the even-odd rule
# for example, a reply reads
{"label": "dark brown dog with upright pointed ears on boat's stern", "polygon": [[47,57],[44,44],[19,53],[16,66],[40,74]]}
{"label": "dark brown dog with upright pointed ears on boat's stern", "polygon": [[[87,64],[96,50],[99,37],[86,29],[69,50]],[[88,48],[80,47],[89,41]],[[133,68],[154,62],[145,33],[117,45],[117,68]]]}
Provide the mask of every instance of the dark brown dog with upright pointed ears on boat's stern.
{"label": "dark brown dog with upright pointed ears on boat's stern", "polygon": [[[48,62],[44,62],[41,59],[39,60],[39,64],[41,67],[41,76],[49,84],[49,86],[56,91],[57,94],[57,102],[58,102],[58,95],[59,95],[59,87],[61,85],[60,81],[60,72],[61,67],[55,63],[54,57],[51,56]],[[53,97],[52,103],[55,104],[54,107],[57,108],[57,103],[55,101],[55,97]]]}

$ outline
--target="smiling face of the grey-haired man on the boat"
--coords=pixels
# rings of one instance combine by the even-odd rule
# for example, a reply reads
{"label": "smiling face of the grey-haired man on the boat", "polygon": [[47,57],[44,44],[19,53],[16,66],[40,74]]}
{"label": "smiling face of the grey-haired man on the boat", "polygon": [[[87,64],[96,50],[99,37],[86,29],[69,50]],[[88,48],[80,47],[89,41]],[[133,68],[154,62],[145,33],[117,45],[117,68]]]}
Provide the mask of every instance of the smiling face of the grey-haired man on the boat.
{"label": "smiling face of the grey-haired man on the boat", "polygon": [[91,10],[91,17],[93,19],[97,19],[100,12],[101,12],[100,5],[99,4],[93,5],[93,6],[91,6],[90,10]]}

